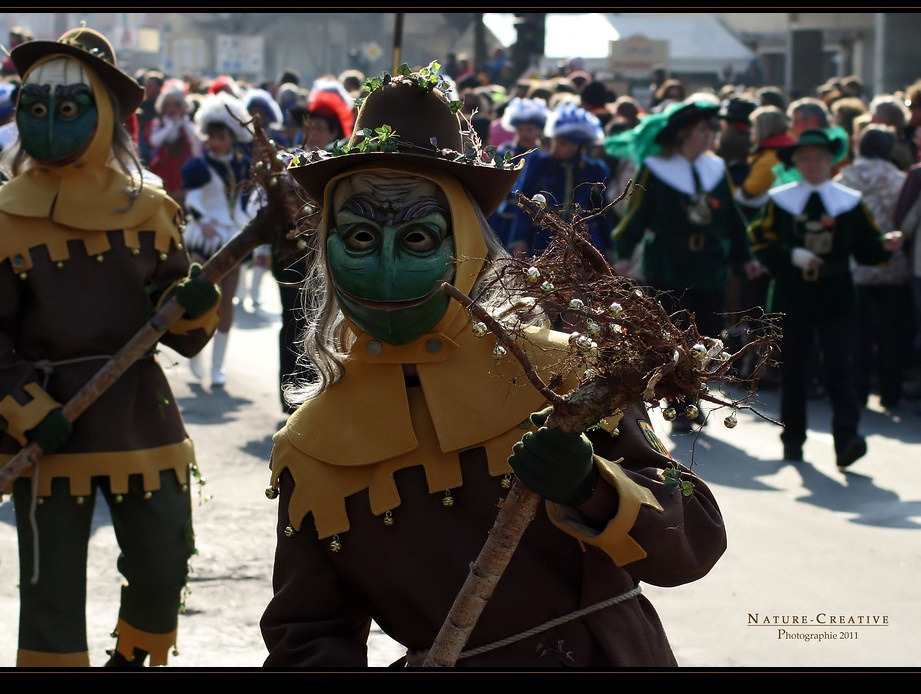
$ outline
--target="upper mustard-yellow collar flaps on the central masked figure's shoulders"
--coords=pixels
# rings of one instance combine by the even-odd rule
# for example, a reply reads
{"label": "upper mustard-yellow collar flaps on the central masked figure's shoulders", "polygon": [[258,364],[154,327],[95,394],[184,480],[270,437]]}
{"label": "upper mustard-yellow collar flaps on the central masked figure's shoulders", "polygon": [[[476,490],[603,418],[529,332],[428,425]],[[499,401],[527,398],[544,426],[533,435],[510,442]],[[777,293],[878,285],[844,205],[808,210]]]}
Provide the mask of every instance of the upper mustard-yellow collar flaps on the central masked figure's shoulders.
{"label": "upper mustard-yellow collar flaps on the central masked figure's shoulders", "polygon": [[[332,465],[370,465],[414,450],[418,440],[403,368],[389,359],[388,350],[402,352],[399,362],[409,350],[422,357],[416,367],[419,382],[443,452],[479,445],[517,427],[545,399],[513,356],[493,356],[493,336],[476,337],[471,328],[467,319],[453,336],[430,333],[411,345],[384,345],[380,355],[369,355],[367,339],[359,340],[342,380],[305,402],[281,433],[301,452]],[[554,351],[568,348],[568,336],[547,329],[527,333],[520,343],[547,380],[548,365],[557,361]],[[440,348],[426,349],[432,344]]]}

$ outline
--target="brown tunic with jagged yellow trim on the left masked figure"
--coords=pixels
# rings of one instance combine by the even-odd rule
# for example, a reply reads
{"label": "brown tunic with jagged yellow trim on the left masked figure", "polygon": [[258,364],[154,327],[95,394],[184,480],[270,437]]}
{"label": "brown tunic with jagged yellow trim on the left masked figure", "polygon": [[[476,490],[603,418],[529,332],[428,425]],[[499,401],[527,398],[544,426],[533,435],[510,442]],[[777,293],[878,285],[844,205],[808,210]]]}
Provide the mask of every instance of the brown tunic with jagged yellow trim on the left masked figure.
{"label": "brown tunic with jagged yellow trim on the left masked figure", "polygon": [[[136,214],[124,217],[130,228],[102,231],[0,210],[0,463],[27,442],[25,431],[73,397],[150,320],[156,298],[188,273],[175,202],[151,190]],[[162,342],[194,354],[213,322],[213,313],[180,322]],[[162,470],[175,469],[185,481],[193,458],[151,352],[81,415],[62,448],[43,456],[38,493],[50,493],[52,478],[69,477],[71,493],[85,495],[95,475],[110,476],[121,493],[132,473],[144,475],[145,489],[157,489]]]}

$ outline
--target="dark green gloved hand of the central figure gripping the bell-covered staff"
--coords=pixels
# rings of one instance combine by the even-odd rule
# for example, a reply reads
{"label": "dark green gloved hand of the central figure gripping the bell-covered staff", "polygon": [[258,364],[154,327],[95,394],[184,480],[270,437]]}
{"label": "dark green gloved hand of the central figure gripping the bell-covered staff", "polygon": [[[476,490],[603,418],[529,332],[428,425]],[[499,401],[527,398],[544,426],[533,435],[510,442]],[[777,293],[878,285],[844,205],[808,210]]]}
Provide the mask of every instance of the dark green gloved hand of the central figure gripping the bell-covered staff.
{"label": "dark green gloved hand of the central figure gripping the bell-covered staff", "polygon": [[568,506],[578,506],[592,495],[598,479],[594,449],[585,434],[545,427],[553,412],[547,407],[531,415],[539,429],[527,432],[512,447],[508,459],[521,483],[534,494]]}

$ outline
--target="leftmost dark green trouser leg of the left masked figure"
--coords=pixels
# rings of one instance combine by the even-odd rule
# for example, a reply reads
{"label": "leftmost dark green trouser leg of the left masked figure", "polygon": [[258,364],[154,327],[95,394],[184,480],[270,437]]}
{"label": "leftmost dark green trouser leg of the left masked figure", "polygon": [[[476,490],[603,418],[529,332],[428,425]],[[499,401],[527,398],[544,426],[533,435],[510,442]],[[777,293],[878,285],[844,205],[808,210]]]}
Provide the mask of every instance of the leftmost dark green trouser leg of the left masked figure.
{"label": "leftmost dark green trouser leg of the left masked figure", "polygon": [[[80,499],[82,498],[82,503]],[[13,485],[19,536],[19,648],[48,654],[87,651],[86,558],[95,493],[74,497],[66,479],[52,481],[51,495],[35,506],[38,529],[38,580],[35,534],[30,519],[31,480]]]}

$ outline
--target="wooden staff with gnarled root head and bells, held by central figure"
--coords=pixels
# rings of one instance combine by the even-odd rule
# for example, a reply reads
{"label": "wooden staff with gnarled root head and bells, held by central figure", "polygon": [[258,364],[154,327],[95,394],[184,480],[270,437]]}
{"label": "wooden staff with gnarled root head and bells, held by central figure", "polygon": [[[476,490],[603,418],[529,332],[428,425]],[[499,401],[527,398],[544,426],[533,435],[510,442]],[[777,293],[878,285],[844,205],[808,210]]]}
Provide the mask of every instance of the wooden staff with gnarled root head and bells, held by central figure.
{"label": "wooden staff with gnarled root head and bells, held by central figure", "polygon": [[[628,185],[621,197],[610,204],[619,202],[629,190]],[[608,317],[611,325],[616,324],[623,331],[608,331],[607,339],[610,342],[630,340],[633,345],[632,350],[621,353],[621,358],[606,358],[606,363],[598,365],[602,367],[598,374],[584,378],[574,390],[562,396],[552,387],[552,379],[549,384],[540,379],[524,351],[510,338],[501,323],[457,288],[443,284],[443,291],[459,301],[478,321],[485,323],[497,341],[515,355],[524,367],[528,380],[553,405],[546,426],[579,434],[604,418],[623,413],[631,402],[638,399],[649,402],[663,398],[699,397],[734,409],[743,407],[742,401],[705,395],[701,388],[708,382],[743,381],[735,375],[733,363],[745,352],[760,350],[762,346],[779,340],[779,330],[766,330],[735,354],[724,354],[722,342],[699,335],[693,321],[687,329],[678,327],[672,323],[672,317],[655,297],[639,291],[632,281],[616,277],[604,256],[591,245],[587,234],[577,233],[582,220],[576,219],[566,224],[557,215],[545,212],[543,203],[529,200],[522,193],[518,194],[518,205],[532,219],[539,220],[542,227],[550,230],[552,239],[541,257],[529,259],[523,267],[527,267],[527,263],[534,263],[533,269],[540,267],[543,271],[550,271],[548,276],[560,279],[561,283],[572,283],[568,290],[554,289],[552,285],[549,289],[541,287],[532,290],[533,297],[539,303],[546,302],[545,307],[556,306],[561,309],[568,306],[572,310],[572,304],[568,301],[571,296],[569,291],[576,290],[577,295],[586,292],[594,294],[592,298],[596,305],[609,306],[609,312],[615,306],[618,309]],[[603,212],[601,210],[594,214]],[[514,268],[516,261],[510,263],[509,267]],[[559,296],[551,298],[556,292],[559,292]],[[616,299],[617,303],[611,304],[612,299]],[[578,301],[583,303],[581,299]],[[578,313],[572,316],[573,320],[580,321],[573,324],[573,327],[583,330],[581,323],[584,320],[578,316]],[[593,317],[603,320],[598,315]],[[770,327],[771,324],[766,322],[765,328]],[[602,339],[599,337],[599,340]],[[700,348],[705,348],[705,353],[701,353]],[[766,366],[769,355],[770,349],[762,354],[757,373]],[[714,359],[717,359],[718,365],[711,369],[710,363]],[[754,378],[751,383],[750,395],[755,392],[756,381],[757,378]],[[528,491],[517,479],[513,482],[508,496],[499,507],[496,521],[480,554],[470,565],[467,580],[426,654],[423,667],[455,665],[541,501],[539,495]]]}

